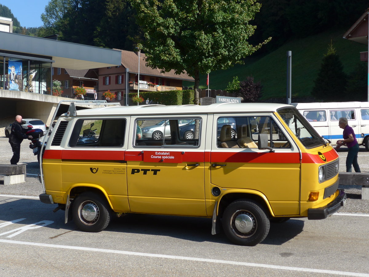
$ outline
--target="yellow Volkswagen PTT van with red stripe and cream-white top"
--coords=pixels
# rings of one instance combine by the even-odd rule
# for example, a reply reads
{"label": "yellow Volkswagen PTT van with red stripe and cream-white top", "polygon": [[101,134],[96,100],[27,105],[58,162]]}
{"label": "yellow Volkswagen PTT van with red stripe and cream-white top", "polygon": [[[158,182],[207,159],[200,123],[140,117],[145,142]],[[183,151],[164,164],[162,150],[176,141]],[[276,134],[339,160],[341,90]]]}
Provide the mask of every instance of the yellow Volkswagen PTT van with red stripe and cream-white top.
{"label": "yellow Volkswagen PTT van with red stripe and cream-white top", "polygon": [[48,136],[39,198],[86,232],[125,213],[196,216],[253,246],[271,220],[324,219],[346,200],[337,152],[291,105],[72,103]]}

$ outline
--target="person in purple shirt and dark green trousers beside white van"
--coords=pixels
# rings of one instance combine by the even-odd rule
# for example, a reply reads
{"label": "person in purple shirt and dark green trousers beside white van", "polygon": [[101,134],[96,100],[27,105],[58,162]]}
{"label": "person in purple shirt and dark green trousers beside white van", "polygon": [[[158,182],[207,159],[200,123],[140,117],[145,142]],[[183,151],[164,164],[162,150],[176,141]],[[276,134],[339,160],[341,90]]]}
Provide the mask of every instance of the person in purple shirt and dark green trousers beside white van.
{"label": "person in purple shirt and dark green trousers beside white van", "polygon": [[356,140],[354,129],[348,126],[348,121],[346,117],[340,117],[338,120],[338,126],[344,129],[344,139],[337,140],[336,149],[345,145],[348,147],[348,154],[346,158],[346,172],[351,172],[351,165],[354,166],[355,172],[361,172],[358,164],[358,153],[359,153],[359,144]]}

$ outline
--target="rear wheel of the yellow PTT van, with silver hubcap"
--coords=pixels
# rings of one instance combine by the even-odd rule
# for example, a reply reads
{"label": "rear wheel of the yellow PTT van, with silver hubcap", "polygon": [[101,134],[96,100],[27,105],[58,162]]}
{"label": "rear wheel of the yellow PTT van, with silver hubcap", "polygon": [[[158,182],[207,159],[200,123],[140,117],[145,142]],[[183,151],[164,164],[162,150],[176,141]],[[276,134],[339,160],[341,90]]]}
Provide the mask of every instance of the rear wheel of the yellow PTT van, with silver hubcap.
{"label": "rear wheel of the yellow PTT van, with silver hubcap", "polygon": [[110,223],[111,209],[106,199],[94,192],[83,192],[73,200],[73,221],[85,232],[100,232]]}

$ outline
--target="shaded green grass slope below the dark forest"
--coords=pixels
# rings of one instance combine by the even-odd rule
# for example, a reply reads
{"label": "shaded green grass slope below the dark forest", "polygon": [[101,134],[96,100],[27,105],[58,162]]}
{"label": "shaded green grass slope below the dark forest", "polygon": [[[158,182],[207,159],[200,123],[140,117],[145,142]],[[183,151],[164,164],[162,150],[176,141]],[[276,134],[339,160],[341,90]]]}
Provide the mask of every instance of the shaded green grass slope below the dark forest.
{"label": "shaded green grass slope below the dark forest", "polygon": [[[342,38],[346,30],[327,31],[310,37],[287,41],[282,47],[263,57],[248,57],[244,65],[235,65],[227,70],[211,72],[210,89],[225,89],[234,76],[243,81],[254,76],[255,82],[263,85],[262,99],[285,98],[287,77],[287,51],[292,51],[292,95],[311,96],[323,55],[327,53],[331,40],[344,71],[350,73],[360,61],[359,52],[368,51],[368,46]],[[193,86],[186,82],[184,86]],[[200,88],[206,87],[206,75],[200,76]]]}

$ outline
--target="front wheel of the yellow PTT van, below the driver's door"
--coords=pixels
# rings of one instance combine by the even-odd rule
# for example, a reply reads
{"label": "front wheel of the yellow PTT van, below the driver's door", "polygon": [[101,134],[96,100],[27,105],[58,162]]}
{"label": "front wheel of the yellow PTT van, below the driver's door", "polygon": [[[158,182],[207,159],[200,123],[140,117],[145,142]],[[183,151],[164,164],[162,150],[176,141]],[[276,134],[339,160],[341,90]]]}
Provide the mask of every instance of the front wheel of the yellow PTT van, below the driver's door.
{"label": "front wheel of the yellow PTT van, below the driver's door", "polygon": [[266,212],[251,200],[237,200],[228,205],[223,213],[222,224],[231,242],[245,246],[261,243],[270,229]]}

